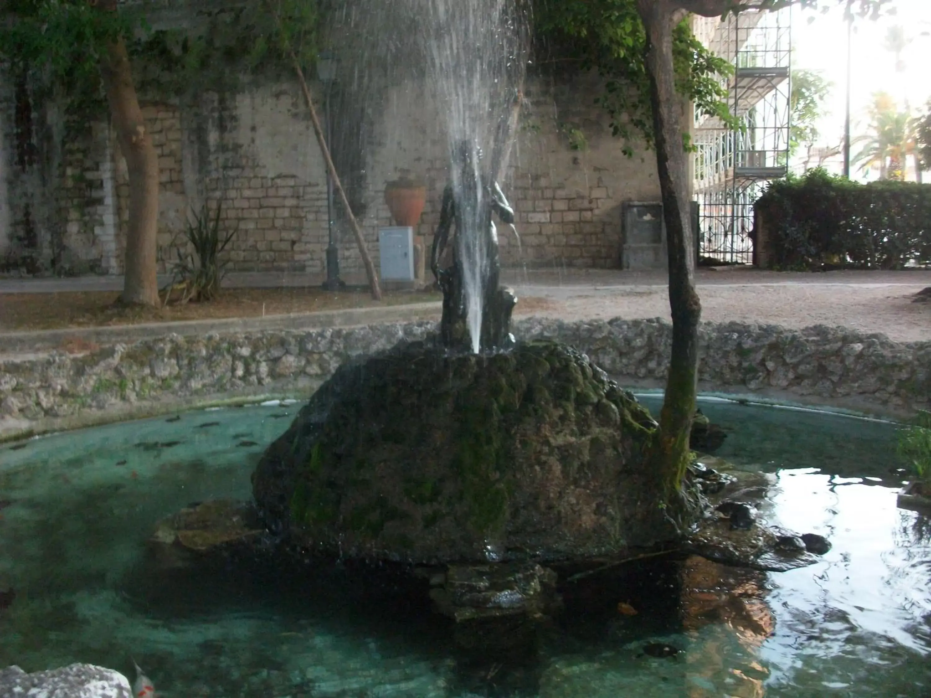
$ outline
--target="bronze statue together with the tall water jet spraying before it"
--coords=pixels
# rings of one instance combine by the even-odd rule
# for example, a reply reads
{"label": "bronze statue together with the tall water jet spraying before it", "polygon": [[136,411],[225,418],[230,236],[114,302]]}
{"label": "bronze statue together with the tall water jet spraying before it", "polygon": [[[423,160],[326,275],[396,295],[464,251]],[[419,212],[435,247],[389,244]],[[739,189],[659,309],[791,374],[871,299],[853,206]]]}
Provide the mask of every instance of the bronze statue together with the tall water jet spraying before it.
{"label": "bronze statue together with the tall water jet spraying before it", "polygon": [[[512,115],[526,65],[522,18],[507,0],[411,0],[424,28],[427,72],[446,116],[452,167],[431,267],[443,289],[443,342],[458,346],[467,329],[473,352],[507,342],[516,299],[498,292],[492,210],[514,222],[497,181],[506,168]],[[491,153],[483,160],[482,153]],[[485,169],[483,169],[485,168]],[[439,257],[455,221],[453,264]]]}

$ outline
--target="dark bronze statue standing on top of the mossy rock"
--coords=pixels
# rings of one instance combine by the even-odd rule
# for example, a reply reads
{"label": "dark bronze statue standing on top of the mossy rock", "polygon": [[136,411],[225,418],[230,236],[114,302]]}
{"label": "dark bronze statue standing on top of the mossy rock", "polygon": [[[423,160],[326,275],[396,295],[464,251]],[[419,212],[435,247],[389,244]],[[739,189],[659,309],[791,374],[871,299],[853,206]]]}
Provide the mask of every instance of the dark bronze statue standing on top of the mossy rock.
{"label": "dark bronze statue standing on top of the mossy rock", "polygon": [[[465,268],[461,251],[462,245],[468,241],[467,235],[484,235],[484,239],[478,242],[486,252],[486,264],[480,270],[483,297],[479,348],[506,348],[514,342],[510,325],[517,297],[511,289],[498,287],[501,259],[498,254],[498,233],[492,221],[494,212],[505,223],[513,224],[514,209],[507,203],[498,183],[488,183],[479,174],[476,160],[480,159],[481,150],[468,141],[461,142],[453,151],[452,166],[459,170],[459,191],[453,189],[452,181],[443,190],[439,225],[430,254],[430,269],[443,292],[440,337],[443,344],[457,349],[471,347],[466,324]],[[482,196],[479,196],[479,192]],[[479,202],[481,210],[478,210]],[[456,224],[455,235],[459,237],[458,244],[453,248],[452,266],[440,269],[439,261],[449,243],[453,221]]]}

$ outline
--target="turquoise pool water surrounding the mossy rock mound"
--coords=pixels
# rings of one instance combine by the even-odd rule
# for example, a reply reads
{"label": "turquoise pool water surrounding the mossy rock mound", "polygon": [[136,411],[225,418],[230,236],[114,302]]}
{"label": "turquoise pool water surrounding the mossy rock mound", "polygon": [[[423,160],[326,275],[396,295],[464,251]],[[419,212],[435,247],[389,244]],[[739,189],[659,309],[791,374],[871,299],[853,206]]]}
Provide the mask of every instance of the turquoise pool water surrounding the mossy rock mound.
{"label": "turquoise pool water surrounding the mossy rock mound", "polygon": [[[715,401],[702,409],[730,432],[717,455],[772,474],[763,515],[823,533],[833,549],[782,574],[688,558],[636,580],[568,584],[538,661],[516,667],[462,656],[425,606],[362,596],[353,570],[308,580],[153,562],[145,541],[160,518],[249,496],[251,469],[295,406],[0,446],[0,591],[16,591],[0,611],[0,666],[81,661],[128,673],[133,656],[160,695],[177,698],[931,695],[931,522],[896,508],[894,427]],[[622,601],[638,614],[618,613]],[[644,655],[651,642],[681,652]]]}

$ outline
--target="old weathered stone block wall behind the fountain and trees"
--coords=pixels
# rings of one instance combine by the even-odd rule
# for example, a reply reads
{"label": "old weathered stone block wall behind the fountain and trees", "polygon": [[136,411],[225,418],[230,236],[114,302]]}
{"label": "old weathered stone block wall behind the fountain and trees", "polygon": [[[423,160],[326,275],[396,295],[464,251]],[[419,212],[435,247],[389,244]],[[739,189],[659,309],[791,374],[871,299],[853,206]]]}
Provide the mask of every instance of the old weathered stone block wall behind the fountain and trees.
{"label": "old weathered stone block wall behind the fountain and trees", "polygon": [[[314,89],[321,93],[318,86]],[[504,263],[620,266],[623,202],[659,199],[650,154],[633,159],[622,154],[622,143],[612,137],[605,115],[593,103],[598,90],[596,75],[561,85],[528,79],[527,108],[501,182],[516,209],[520,236],[518,244],[507,226],[499,226]],[[362,106],[350,100],[346,108]],[[376,268],[378,229],[393,224],[384,201],[386,182],[402,172],[425,181],[427,202],[417,234],[429,248],[449,179],[450,150],[445,114],[423,80],[386,88],[380,106],[366,112],[371,120],[363,129],[366,136],[352,145],[360,149],[356,169],[341,172],[357,202]],[[222,203],[224,230],[234,233],[226,250],[230,269],[323,274],[327,173],[296,83],[251,79],[236,94],[145,102],[143,115],[159,161],[159,272],[171,270],[177,257],[172,243],[183,244],[191,210],[206,201]],[[345,116],[333,114],[334,141],[356,138],[341,132]],[[582,149],[573,150],[567,124],[585,134]],[[46,266],[122,273],[128,176],[115,134],[102,120],[90,124],[81,138],[64,141],[63,133],[52,129],[42,141],[45,146],[57,139],[61,146],[60,154],[40,154],[52,163],[48,181],[30,187],[23,180],[14,187],[14,203],[24,204],[27,190],[40,190],[31,203],[30,224]],[[0,138],[7,161],[11,142],[8,133]],[[49,197],[50,208],[44,203]],[[341,266],[346,273],[360,272],[358,249],[338,204],[333,218]],[[27,223],[20,219],[14,217],[7,226],[8,239],[21,235]]]}

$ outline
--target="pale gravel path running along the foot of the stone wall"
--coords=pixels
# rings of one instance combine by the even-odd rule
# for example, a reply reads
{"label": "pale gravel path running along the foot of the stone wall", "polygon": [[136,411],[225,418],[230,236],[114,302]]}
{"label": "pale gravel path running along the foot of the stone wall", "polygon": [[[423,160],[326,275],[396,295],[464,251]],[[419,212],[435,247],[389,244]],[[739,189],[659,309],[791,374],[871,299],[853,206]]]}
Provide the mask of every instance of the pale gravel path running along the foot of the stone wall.
{"label": "pale gravel path running along the foot of the stone wall", "polygon": [[[364,284],[360,275],[346,281]],[[669,317],[665,272],[616,269],[533,271],[509,269],[503,281],[515,287],[518,315],[583,317]],[[292,288],[317,286],[314,275],[230,274],[227,287]],[[702,318],[710,322],[756,322],[805,328],[842,326],[882,332],[898,342],[931,341],[931,302],[911,302],[931,287],[931,271],[823,274],[762,272],[746,268],[699,269],[695,273]],[[119,289],[122,277],[74,279],[0,278],[0,293],[47,293],[66,290]]]}

